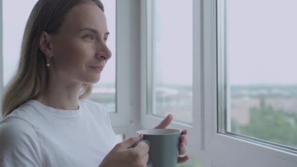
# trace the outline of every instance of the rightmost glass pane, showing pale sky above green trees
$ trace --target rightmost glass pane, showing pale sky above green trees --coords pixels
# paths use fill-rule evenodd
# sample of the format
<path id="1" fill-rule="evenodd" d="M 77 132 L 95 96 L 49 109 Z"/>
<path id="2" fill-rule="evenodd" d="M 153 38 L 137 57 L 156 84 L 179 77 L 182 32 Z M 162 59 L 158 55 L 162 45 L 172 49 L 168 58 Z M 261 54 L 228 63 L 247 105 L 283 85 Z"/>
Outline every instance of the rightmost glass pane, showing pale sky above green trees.
<path id="1" fill-rule="evenodd" d="M 297 147 L 297 1 L 226 1 L 229 131 Z"/>

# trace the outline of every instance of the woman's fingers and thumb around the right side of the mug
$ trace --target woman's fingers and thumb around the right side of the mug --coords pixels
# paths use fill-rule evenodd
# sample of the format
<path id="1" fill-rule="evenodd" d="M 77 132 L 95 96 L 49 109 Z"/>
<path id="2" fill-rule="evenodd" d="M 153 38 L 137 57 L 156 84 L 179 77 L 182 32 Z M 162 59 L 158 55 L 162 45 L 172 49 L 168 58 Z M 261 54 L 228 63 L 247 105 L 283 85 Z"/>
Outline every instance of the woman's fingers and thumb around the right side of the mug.
<path id="1" fill-rule="evenodd" d="M 161 121 L 161 123 L 159 125 L 157 125 L 154 128 L 155 129 L 165 129 L 168 125 L 170 125 L 172 119 L 173 119 L 173 116 L 171 114 L 169 114 L 166 118 L 164 118 L 163 121 Z M 179 138 L 180 139 L 179 155 L 183 155 L 187 152 L 187 150 L 186 150 L 186 146 L 188 145 L 187 134 L 188 134 L 187 129 L 182 130 L 182 135 Z M 187 155 L 184 157 L 178 157 L 177 163 L 182 164 L 182 163 L 185 163 L 186 161 L 188 161 L 189 159 L 190 159 L 190 157 Z"/>

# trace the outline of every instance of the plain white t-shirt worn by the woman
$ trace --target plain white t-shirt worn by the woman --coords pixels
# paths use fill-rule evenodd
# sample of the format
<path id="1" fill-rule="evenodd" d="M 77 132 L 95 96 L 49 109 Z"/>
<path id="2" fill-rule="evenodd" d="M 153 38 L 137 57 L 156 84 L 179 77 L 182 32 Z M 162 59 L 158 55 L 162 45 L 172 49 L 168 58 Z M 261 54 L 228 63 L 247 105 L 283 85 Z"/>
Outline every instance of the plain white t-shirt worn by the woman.
<path id="1" fill-rule="evenodd" d="M 78 110 L 30 100 L 0 122 L 0 167 L 98 167 L 114 145 L 108 113 L 90 100 Z"/>

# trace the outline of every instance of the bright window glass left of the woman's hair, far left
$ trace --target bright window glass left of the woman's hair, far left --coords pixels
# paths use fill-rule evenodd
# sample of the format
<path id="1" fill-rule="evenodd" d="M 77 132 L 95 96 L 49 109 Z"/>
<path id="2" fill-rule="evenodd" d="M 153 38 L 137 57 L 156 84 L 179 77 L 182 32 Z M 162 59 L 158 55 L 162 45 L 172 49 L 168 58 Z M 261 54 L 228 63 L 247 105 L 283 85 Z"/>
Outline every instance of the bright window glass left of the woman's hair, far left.
<path id="1" fill-rule="evenodd" d="M 21 53 L 21 41 L 25 24 L 37 0 L 19 1 L 2 0 L 3 17 L 3 85 L 14 74 Z M 14 10 L 11 10 L 14 9 Z M 18 11 L 18 12 L 16 12 Z"/>

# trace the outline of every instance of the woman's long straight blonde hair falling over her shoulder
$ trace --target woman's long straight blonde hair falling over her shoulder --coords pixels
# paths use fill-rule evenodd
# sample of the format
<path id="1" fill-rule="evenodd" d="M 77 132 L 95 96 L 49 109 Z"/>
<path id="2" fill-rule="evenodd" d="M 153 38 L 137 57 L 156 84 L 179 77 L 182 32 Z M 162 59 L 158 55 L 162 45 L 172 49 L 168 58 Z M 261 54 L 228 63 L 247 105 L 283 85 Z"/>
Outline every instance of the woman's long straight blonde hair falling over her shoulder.
<path id="1" fill-rule="evenodd" d="M 46 58 L 39 48 L 42 32 L 59 33 L 68 11 L 83 2 L 95 2 L 104 11 L 100 0 L 39 0 L 35 4 L 25 27 L 18 69 L 4 91 L 1 108 L 3 118 L 46 90 Z M 91 91 L 92 84 L 82 84 L 79 98 L 86 98 Z"/>

